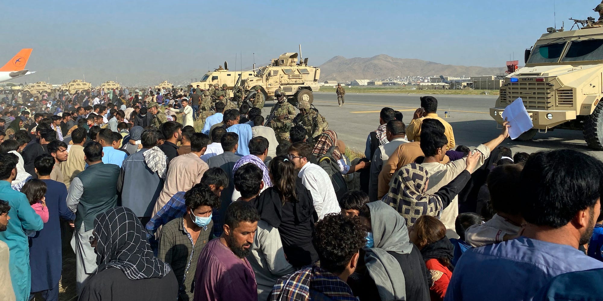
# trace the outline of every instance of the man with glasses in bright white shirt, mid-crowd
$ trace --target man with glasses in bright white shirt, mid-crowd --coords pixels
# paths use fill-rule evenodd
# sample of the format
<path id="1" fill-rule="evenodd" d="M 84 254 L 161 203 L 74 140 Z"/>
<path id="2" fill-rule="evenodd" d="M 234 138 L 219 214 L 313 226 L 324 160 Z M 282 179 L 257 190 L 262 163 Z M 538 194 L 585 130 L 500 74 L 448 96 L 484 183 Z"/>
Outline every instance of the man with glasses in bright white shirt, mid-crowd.
<path id="1" fill-rule="evenodd" d="M 296 142 L 289 146 L 289 160 L 295 164 L 295 169 L 299 170 L 301 184 L 310 191 L 318 220 L 321 220 L 326 214 L 340 213 L 341 207 L 335 188 L 330 185 L 329 175 L 322 167 L 308 161 L 311 155 L 312 149 L 308 143 Z"/>

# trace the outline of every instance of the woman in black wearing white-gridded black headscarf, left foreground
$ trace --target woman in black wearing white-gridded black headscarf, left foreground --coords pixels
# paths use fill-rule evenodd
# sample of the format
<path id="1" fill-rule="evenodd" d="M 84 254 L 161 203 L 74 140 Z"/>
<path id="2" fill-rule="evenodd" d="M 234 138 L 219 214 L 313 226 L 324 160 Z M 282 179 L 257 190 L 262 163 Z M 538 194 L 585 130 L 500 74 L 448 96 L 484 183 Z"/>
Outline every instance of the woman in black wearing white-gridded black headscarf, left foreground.
<path id="1" fill-rule="evenodd" d="M 116 207 L 96 216 L 90 245 L 98 269 L 84 285 L 79 300 L 175 300 L 176 276 L 153 255 L 146 237 L 128 208 Z"/>

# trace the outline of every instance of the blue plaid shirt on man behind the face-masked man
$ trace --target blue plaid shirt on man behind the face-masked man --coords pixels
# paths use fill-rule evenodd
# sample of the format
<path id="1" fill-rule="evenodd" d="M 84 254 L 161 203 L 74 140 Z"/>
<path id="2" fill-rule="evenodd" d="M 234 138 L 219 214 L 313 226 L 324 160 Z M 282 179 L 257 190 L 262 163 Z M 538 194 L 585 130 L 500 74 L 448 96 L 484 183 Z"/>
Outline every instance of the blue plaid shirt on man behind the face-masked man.
<path id="1" fill-rule="evenodd" d="M 168 202 L 157 211 L 154 217 L 147 223 L 147 238 L 153 237 L 153 234 L 159 229 L 160 226 L 165 225 L 173 219 L 177 219 L 185 215 L 186 204 L 185 204 L 185 193 L 186 191 L 178 191 Z M 212 221 L 213 221 L 213 236 L 220 237 L 222 235 L 222 224 L 218 223 L 220 214 L 218 210 L 213 210 Z"/>

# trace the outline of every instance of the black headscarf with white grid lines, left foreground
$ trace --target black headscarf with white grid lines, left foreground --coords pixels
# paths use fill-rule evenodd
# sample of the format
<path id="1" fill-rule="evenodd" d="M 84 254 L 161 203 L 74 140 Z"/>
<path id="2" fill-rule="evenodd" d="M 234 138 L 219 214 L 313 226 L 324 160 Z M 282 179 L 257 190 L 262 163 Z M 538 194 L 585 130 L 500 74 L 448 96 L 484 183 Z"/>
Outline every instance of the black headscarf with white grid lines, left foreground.
<path id="1" fill-rule="evenodd" d="M 134 213 L 115 207 L 94 219 L 96 234 L 96 273 L 119 268 L 131 280 L 163 278 L 171 271 L 169 265 L 153 255 L 147 232 Z"/>

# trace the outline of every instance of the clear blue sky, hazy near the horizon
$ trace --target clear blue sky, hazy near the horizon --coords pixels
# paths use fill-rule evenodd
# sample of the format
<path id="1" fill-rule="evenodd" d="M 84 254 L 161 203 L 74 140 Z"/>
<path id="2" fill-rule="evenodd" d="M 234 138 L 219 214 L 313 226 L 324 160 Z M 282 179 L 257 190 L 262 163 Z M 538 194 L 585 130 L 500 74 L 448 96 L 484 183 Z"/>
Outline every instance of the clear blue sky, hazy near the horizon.
<path id="1" fill-rule="evenodd" d="M 557 27 L 596 17 L 598 1 L 557 0 Z M 554 26 L 552 0 L 508 1 L 4 1 L 0 60 L 34 48 L 28 67 L 112 73 L 231 69 L 282 52 L 311 64 L 387 54 L 502 67 Z M 10 24 L 11 26 L 7 26 Z M 8 29 L 8 28 L 13 28 Z M 241 67 L 241 58 L 237 58 Z"/>

